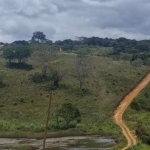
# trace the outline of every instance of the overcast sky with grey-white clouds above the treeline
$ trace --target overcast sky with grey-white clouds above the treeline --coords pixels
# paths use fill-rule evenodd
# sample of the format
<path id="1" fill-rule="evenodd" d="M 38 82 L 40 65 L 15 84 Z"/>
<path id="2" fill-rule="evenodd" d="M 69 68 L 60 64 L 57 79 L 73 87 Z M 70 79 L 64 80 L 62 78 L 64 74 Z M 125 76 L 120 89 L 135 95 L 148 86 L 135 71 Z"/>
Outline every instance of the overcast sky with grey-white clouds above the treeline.
<path id="1" fill-rule="evenodd" d="M 0 42 L 76 37 L 150 39 L 150 0 L 0 0 Z"/>

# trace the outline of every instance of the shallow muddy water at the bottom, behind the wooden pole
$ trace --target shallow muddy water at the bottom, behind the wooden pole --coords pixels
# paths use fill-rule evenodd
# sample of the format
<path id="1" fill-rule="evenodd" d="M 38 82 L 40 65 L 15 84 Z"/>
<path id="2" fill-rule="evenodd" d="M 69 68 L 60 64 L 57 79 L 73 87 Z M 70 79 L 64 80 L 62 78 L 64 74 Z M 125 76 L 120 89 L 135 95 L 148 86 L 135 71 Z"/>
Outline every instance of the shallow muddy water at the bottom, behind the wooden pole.
<path id="1" fill-rule="evenodd" d="M 1 150 L 42 150 L 42 144 L 37 139 L 0 139 Z M 115 144 L 113 139 L 99 136 L 48 138 L 46 150 L 111 150 Z"/>

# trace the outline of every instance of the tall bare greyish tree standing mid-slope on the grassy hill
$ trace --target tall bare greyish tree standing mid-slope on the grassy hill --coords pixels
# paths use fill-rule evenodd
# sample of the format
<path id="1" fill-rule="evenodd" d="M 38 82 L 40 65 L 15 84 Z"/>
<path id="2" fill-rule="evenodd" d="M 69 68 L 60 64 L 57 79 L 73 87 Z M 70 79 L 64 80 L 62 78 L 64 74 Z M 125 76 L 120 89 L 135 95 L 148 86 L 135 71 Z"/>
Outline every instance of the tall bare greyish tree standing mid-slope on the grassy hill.
<path id="1" fill-rule="evenodd" d="M 87 57 L 86 53 L 82 51 L 77 54 L 76 58 L 75 77 L 79 81 L 80 90 L 83 88 L 88 77 L 89 62 Z"/>

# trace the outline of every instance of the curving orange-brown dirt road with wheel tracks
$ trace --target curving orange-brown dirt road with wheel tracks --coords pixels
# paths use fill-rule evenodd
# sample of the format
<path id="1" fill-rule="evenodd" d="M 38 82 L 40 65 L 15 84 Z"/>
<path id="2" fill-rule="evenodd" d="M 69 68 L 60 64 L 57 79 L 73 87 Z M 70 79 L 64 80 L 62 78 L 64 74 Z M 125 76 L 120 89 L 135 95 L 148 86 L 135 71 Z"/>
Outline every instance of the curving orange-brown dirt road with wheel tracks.
<path id="1" fill-rule="evenodd" d="M 126 150 L 127 148 L 136 145 L 137 139 L 125 125 L 122 120 L 124 111 L 127 109 L 132 100 L 138 95 L 138 93 L 150 82 L 150 72 L 145 76 L 145 78 L 122 100 L 118 108 L 114 113 L 114 121 L 122 129 L 122 133 L 127 139 L 127 146 L 122 148 Z"/>

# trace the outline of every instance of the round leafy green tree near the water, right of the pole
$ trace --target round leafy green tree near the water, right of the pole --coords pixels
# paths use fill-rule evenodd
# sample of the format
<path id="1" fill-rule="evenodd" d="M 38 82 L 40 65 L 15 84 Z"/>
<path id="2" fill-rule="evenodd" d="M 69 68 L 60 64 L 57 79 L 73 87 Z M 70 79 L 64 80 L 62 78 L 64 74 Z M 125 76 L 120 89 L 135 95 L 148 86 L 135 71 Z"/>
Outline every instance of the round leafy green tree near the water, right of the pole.
<path id="1" fill-rule="evenodd" d="M 64 103 L 59 110 L 59 115 L 64 119 L 66 127 L 69 127 L 71 121 L 80 120 L 81 117 L 79 109 L 71 103 Z"/>

